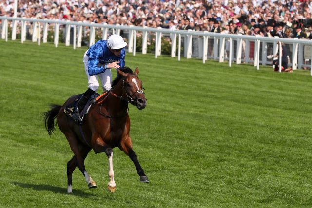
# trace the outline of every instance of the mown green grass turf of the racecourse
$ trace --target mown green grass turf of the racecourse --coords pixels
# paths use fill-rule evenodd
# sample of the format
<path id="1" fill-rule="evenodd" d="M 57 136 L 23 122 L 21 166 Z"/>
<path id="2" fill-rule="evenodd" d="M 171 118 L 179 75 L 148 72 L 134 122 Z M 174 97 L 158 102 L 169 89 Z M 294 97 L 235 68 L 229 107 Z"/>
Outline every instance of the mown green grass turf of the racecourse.
<path id="1" fill-rule="evenodd" d="M 117 191 L 109 193 L 108 159 L 90 152 L 98 189 L 76 169 L 67 194 L 73 153 L 59 130 L 48 136 L 41 113 L 87 89 L 86 48 L 0 40 L 0 49 L 0 207 L 312 206 L 310 72 L 128 54 L 148 99 L 129 114 L 151 183 L 114 149 Z"/>

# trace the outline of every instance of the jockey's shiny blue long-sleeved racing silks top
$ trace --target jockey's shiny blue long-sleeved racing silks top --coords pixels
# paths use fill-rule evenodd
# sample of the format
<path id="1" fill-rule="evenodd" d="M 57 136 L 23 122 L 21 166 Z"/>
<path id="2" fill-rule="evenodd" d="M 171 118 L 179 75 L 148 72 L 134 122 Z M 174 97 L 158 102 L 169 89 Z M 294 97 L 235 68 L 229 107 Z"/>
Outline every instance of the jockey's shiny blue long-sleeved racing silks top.
<path id="1" fill-rule="evenodd" d="M 110 52 L 109 48 L 106 45 L 106 40 L 99 40 L 94 45 L 90 46 L 87 56 L 89 57 L 89 67 L 88 72 L 89 75 L 98 75 L 105 71 L 103 65 L 108 63 L 112 63 L 115 61 L 120 61 L 118 65 L 120 67 L 125 66 L 125 55 L 126 51 L 123 48 L 121 50 L 120 56 L 115 56 L 112 52 Z"/>

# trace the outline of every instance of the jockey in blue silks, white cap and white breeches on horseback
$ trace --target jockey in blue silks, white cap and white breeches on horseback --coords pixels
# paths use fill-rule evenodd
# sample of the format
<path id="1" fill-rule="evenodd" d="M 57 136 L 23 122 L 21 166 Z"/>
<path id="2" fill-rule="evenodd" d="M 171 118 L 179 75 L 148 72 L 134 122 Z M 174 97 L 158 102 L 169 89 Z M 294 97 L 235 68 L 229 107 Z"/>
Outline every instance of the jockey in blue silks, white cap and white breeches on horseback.
<path id="1" fill-rule="evenodd" d="M 88 99 L 98 90 L 97 76 L 101 80 L 104 92 L 111 89 L 112 73 L 111 69 L 125 66 L 125 47 L 127 43 L 119 35 L 111 35 L 107 40 L 99 40 L 83 55 L 84 69 L 88 77 L 88 90 L 78 100 L 72 117 L 82 124 L 80 111 L 86 105 Z"/>

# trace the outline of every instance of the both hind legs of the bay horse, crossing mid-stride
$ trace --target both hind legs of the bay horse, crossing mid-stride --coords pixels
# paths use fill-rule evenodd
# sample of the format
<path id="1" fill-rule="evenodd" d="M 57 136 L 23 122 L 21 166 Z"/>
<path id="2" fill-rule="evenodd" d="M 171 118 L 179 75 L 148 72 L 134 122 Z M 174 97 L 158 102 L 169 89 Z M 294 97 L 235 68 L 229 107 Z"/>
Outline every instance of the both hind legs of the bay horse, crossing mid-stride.
<path id="1" fill-rule="evenodd" d="M 72 159 L 67 163 L 67 192 L 72 193 L 72 175 L 76 167 L 78 167 L 79 170 L 84 175 L 86 182 L 88 183 L 89 189 L 97 188 L 96 183 L 89 176 L 87 170 L 85 169 L 83 162 L 84 159 L 87 157 L 91 148 L 83 146 L 81 144 L 79 145 L 78 141 L 75 139 L 76 137 L 66 136 L 66 138 L 69 142 L 72 151 L 75 154 L 75 156 L 72 157 Z"/>

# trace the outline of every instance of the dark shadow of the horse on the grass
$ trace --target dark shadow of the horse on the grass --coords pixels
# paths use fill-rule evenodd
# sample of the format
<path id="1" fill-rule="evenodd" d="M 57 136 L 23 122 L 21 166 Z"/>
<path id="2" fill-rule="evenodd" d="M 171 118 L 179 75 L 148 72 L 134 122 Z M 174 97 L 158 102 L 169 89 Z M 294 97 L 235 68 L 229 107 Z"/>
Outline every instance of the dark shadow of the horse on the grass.
<path id="1" fill-rule="evenodd" d="M 37 191 L 47 190 L 54 193 L 61 193 L 61 194 L 68 194 L 66 188 L 57 187 L 57 186 L 51 186 L 46 184 L 28 184 L 28 183 L 21 183 L 21 182 L 13 182 L 13 185 L 17 185 L 22 188 L 31 188 Z M 69 194 L 70 195 L 70 194 Z M 81 190 L 73 190 L 73 195 L 80 196 L 80 197 L 96 197 L 97 195 L 94 195 L 92 193 L 87 193 Z"/>

